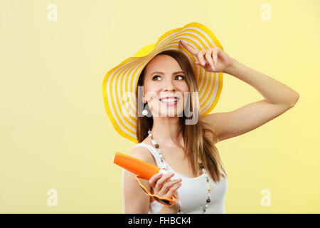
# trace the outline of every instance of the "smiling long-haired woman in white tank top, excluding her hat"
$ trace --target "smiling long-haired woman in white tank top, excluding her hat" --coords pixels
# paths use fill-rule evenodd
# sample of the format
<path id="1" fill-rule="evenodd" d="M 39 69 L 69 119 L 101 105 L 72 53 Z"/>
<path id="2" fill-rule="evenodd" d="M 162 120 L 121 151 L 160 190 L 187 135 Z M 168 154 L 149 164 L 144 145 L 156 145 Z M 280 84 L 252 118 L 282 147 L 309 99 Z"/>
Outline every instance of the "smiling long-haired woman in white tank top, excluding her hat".
<path id="1" fill-rule="evenodd" d="M 136 99 L 146 105 L 144 116 L 137 118 L 139 144 L 128 155 L 166 168 L 169 173 L 140 182 L 152 195 L 176 199 L 171 207 L 155 201 L 137 185 L 135 175 L 124 170 L 124 213 L 225 213 L 228 184 L 215 143 L 267 123 L 299 99 L 299 94 L 288 86 L 230 58 L 218 46 L 196 51 L 182 39 L 179 41 L 204 71 L 235 76 L 265 99 L 228 113 L 198 115 L 198 100 L 193 99 L 198 92 L 196 70 L 186 55 L 166 50 L 151 58 L 137 82 Z M 139 88 L 143 90 L 142 100 Z M 185 114 L 188 106 L 191 116 Z M 196 120 L 186 124 L 195 116 Z"/>

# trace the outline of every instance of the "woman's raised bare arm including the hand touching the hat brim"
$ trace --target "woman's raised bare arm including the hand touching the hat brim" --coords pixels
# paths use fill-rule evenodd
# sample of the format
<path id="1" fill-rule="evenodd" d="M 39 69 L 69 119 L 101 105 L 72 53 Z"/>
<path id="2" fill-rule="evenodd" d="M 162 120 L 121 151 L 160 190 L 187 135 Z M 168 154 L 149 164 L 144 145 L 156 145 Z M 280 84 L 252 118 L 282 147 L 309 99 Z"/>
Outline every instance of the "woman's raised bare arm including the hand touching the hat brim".
<path id="1" fill-rule="evenodd" d="M 203 120 L 210 123 L 218 141 L 242 135 L 267 123 L 294 107 L 299 100 L 299 93 L 289 86 L 230 58 L 217 46 L 196 51 L 185 41 L 181 41 L 181 45 L 198 58 L 196 63 L 206 71 L 228 73 L 248 83 L 265 98 L 231 112 L 203 116 Z"/>

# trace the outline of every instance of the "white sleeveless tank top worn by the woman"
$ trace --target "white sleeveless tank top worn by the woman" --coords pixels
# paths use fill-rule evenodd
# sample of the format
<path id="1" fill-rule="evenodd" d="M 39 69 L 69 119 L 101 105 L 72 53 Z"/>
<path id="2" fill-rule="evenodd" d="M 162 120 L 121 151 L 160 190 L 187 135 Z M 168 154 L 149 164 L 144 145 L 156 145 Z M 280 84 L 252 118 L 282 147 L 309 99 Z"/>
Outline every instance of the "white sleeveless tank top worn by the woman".
<path id="1" fill-rule="evenodd" d="M 156 149 L 151 145 L 148 145 L 144 142 L 140 142 L 134 147 L 145 147 L 151 152 L 151 155 L 154 156 L 156 160 L 156 165 L 161 167 L 161 159 L 159 157 Z M 204 174 L 190 178 L 185 175 L 181 175 L 178 172 L 172 170 L 172 168 L 164 160 L 164 165 L 168 172 L 174 172 L 174 176 L 171 177 L 171 180 L 182 178 L 181 187 L 178 188 L 177 192 L 180 198 L 181 203 L 181 213 L 185 214 L 202 214 L 203 207 L 206 205 L 206 200 L 208 199 L 208 190 L 207 190 L 207 181 Z M 223 172 L 221 170 L 221 172 Z M 228 181 L 225 177 L 221 176 L 220 182 L 215 183 L 213 179 L 208 175 L 210 182 L 210 203 L 206 209 L 206 214 L 225 214 L 225 195 L 228 189 Z M 156 202 L 150 202 L 149 212 L 151 214 L 159 213 L 162 207 L 166 207 L 163 204 Z"/>

